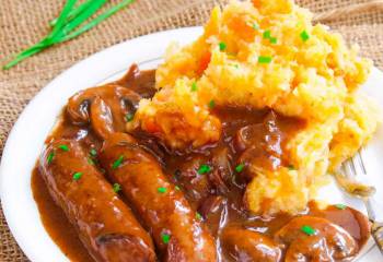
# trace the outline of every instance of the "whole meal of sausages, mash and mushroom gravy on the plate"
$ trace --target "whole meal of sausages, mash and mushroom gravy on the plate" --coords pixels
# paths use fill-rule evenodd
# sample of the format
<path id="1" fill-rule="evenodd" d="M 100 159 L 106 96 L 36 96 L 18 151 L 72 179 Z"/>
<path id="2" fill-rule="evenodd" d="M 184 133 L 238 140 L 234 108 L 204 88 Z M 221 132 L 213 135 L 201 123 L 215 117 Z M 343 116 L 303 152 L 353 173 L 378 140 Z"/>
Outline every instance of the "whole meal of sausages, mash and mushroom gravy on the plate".
<path id="1" fill-rule="evenodd" d="M 69 98 L 32 180 L 69 259 L 356 258 L 368 218 L 315 193 L 376 129 L 357 92 L 371 61 L 311 16 L 289 0 L 232 1 L 156 70 L 134 64 Z"/>

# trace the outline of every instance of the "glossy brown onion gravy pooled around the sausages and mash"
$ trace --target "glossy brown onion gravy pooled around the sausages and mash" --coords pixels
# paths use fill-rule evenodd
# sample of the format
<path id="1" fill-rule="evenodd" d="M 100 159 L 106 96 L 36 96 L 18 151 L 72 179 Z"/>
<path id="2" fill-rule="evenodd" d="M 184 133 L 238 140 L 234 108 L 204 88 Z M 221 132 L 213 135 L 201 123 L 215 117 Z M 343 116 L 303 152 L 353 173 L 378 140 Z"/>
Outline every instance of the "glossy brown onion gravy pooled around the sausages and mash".
<path id="1" fill-rule="evenodd" d="M 142 97 L 151 97 L 154 94 L 154 70 L 139 72 L 132 67 L 128 74 L 116 83 L 134 90 Z M 134 136 L 159 159 L 170 180 L 184 191 L 192 206 L 201 214 L 213 237 L 219 239 L 219 231 L 223 228 L 240 226 L 272 238 L 293 216 L 279 214 L 265 218 L 249 215 L 243 203 L 243 193 L 251 177 L 246 175 L 246 170 L 243 174 L 235 172 L 234 167 L 239 163 L 252 160 L 260 162 L 271 169 L 289 166 L 286 160 L 286 141 L 304 127 L 304 122 L 281 117 L 270 110 L 217 107 L 213 114 L 222 121 L 223 135 L 218 143 L 202 148 L 172 152 L 148 134 L 137 132 Z M 239 138 L 239 130 L 244 127 L 251 129 L 244 130 L 244 136 Z M 117 131 L 124 131 L 124 126 L 117 127 Z M 85 152 L 92 148 L 100 150 L 102 145 L 102 140 L 94 134 L 91 126 L 73 124 L 67 114 L 62 115 L 47 141 L 55 138 L 81 141 Z M 248 146 L 247 142 L 256 145 Z M 251 154 L 244 154 L 246 151 Z M 252 157 L 248 158 L 249 156 Z M 92 160 L 97 166 L 97 159 Z M 214 171 L 200 176 L 197 169 L 201 164 L 214 167 Z M 71 261 L 93 261 L 63 212 L 50 198 L 38 172 L 36 167 L 32 176 L 32 189 L 49 236 Z M 320 210 L 315 203 L 310 203 L 307 211 L 301 215 L 304 214 L 324 217 L 341 226 L 357 240 L 359 248 L 369 237 L 369 224 L 364 216 L 352 209 L 329 206 Z M 218 252 L 221 254 L 221 261 L 232 261 L 230 254 L 224 251 L 224 245 L 218 245 Z"/>

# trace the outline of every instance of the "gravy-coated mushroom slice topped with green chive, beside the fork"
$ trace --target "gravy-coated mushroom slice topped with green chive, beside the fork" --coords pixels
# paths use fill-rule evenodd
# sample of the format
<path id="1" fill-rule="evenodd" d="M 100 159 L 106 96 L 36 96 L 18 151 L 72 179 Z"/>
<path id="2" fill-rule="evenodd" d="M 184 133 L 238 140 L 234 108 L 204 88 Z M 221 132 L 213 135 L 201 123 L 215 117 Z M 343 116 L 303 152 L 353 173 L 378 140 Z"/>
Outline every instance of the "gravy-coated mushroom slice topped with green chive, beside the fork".
<path id="1" fill-rule="evenodd" d="M 295 217 L 275 237 L 288 245 L 286 262 L 344 261 L 358 253 L 358 243 L 350 234 L 322 217 Z"/>

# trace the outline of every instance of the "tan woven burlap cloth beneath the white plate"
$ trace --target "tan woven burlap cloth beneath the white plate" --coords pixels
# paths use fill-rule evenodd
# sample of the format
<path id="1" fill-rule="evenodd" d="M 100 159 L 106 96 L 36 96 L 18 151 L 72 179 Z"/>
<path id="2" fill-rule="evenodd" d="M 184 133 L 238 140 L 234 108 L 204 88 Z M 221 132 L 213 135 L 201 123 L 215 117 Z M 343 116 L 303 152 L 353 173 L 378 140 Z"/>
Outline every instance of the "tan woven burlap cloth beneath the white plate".
<path id="1" fill-rule="evenodd" d="M 48 21 L 58 15 L 63 2 L 0 0 L 0 62 L 40 39 L 49 29 Z M 298 2 L 320 13 L 367 0 Z M 0 70 L 0 156 L 8 133 L 24 106 L 57 74 L 117 43 L 158 31 L 200 25 L 216 4 L 222 5 L 224 0 L 137 0 L 79 38 L 38 53 L 9 71 Z M 383 69 L 383 10 L 346 15 L 327 24 L 349 43 L 359 44 L 362 55 L 372 58 L 375 66 Z M 9 231 L 1 211 L 0 261 L 27 261 Z"/>

